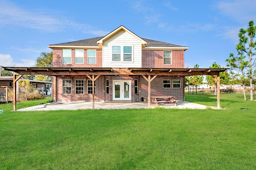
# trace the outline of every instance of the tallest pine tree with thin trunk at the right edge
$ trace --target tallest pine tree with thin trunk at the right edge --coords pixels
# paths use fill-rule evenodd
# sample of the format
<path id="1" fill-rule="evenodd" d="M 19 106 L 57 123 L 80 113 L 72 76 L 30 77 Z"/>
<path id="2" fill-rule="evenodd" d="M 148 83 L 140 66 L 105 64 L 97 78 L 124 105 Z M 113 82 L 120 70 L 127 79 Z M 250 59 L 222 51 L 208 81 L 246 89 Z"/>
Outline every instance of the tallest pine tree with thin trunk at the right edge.
<path id="1" fill-rule="evenodd" d="M 256 70 L 256 41 L 255 41 L 255 32 L 256 32 L 256 26 L 254 26 L 253 21 L 249 21 L 249 25 L 247 29 L 241 28 L 238 37 L 239 37 L 239 43 L 236 45 L 236 50 L 238 51 L 238 55 L 246 55 L 247 61 L 249 63 L 248 66 L 246 66 L 246 69 L 248 70 L 248 75 L 250 79 L 250 100 L 253 100 L 253 88 L 252 88 L 252 81 L 255 76 Z"/>

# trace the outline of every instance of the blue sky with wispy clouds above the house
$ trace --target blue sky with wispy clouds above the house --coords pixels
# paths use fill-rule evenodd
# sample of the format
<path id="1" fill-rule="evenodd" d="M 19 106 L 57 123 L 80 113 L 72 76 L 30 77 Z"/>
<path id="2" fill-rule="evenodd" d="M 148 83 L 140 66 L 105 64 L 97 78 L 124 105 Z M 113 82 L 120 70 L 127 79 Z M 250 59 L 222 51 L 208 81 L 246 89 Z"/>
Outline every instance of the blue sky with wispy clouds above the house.
<path id="1" fill-rule="evenodd" d="M 256 23 L 255 0 L 0 0 L 0 65 L 33 66 L 47 45 L 107 35 L 189 47 L 185 67 L 208 68 L 236 54 L 238 32 Z"/>

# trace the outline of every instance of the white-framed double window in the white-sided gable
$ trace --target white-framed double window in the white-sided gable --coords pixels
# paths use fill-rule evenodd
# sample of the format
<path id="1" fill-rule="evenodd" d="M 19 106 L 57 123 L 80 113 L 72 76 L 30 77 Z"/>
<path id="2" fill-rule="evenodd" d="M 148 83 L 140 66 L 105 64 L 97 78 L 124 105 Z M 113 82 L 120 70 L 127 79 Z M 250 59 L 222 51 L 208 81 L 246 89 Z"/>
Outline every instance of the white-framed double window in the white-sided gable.
<path id="1" fill-rule="evenodd" d="M 113 45 L 112 61 L 131 62 L 133 61 L 132 45 Z"/>

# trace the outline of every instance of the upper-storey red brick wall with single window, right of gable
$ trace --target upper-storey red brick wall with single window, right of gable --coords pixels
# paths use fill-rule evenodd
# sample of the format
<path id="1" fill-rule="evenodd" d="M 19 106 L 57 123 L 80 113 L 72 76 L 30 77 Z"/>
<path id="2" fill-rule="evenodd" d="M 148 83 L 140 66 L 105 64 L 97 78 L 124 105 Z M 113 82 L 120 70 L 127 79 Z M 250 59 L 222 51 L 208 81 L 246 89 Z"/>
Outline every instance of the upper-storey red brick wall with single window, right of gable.
<path id="1" fill-rule="evenodd" d="M 184 50 L 172 50 L 172 64 L 164 64 L 164 50 L 142 50 L 142 68 L 184 68 Z"/>

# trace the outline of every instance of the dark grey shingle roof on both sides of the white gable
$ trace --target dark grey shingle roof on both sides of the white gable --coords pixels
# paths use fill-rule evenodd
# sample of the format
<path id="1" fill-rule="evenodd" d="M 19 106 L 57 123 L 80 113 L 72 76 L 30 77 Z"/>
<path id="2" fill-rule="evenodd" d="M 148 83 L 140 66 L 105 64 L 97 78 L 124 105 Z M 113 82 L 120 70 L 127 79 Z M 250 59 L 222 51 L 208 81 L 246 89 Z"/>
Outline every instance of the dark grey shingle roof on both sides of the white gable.
<path id="1" fill-rule="evenodd" d="M 60 44 L 52 44 L 56 46 L 91 46 L 91 47 L 98 47 L 97 41 L 102 39 L 103 37 L 96 37 L 96 38 L 90 38 L 90 39 L 84 39 L 84 40 L 79 40 L 79 41 L 72 41 L 68 43 L 60 43 Z M 146 39 L 146 38 L 141 38 L 144 41 L 147 42 L 146 47 L 184 47 L 181 45 L 175 45 L 175 44 L 170 44 L 170 43 L 164 43 L 161 41 L 155 41 L 152 39 Z"/>

